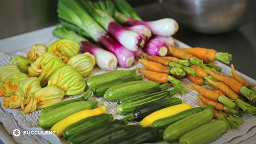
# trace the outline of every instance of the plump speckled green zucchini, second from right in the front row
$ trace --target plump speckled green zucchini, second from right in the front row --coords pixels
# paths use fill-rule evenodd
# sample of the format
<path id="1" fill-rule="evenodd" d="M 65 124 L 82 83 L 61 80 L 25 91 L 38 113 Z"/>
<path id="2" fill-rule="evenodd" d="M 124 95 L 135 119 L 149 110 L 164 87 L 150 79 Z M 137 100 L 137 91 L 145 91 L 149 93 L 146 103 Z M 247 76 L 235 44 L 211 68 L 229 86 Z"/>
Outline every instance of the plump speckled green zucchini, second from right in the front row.
<path id="1" fill-rule="evenodd" d="M 183 134 L 210 122 L 213 114 L 214 110 L 212 108 L 182 118 L 180 121 L 169 125 L 164 130 L 163 139 L 167 142 L 178 141 Z"/>

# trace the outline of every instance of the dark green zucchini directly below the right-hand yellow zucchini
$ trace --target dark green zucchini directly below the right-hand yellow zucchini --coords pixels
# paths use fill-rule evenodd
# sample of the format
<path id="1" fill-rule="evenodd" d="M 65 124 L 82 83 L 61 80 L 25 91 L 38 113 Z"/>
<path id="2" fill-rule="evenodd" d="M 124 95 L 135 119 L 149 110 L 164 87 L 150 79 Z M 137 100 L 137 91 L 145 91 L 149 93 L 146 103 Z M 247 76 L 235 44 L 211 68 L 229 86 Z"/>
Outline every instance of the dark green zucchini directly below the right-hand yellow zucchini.
<path id="1" fill-rule="evenodd" d="M 178 114 L 158 119 L 155 122 L 153 122 L 151 124 L 151 126 L 155 127 L 156 129 L 164 130 L 164 129 L 166 129 L 166 127 L 168 127 L 169 125 L 171 125 L 175 122 L 178 122 L 180 119 L 185 118 L 189 115 L 201 112 L 201 111 L 203 111 L 203 109 L 201 107 L 190 108 L 185 111 L 181 111 Z"/>

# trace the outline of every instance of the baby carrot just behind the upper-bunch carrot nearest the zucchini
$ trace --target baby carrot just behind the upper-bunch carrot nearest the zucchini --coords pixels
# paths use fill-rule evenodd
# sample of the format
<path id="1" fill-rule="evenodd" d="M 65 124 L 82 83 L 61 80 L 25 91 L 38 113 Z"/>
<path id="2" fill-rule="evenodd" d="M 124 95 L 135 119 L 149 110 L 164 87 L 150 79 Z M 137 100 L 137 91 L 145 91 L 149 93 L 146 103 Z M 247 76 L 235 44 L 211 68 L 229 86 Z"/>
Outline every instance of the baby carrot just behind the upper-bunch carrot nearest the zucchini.
<path id="1" fill-rule="evenodd" d="M 161 63 L 154 62 L 154 61 L 148 61 L 145 59 L 139 59 L 139 62 L 142 63 L 143 66 L 148 68 L 149 70 L 156 71 L 159 73 L 166 73 L 166 74 L 172 74 L 172 75 L 185 75 L 185 71 L 183 71 L 180 68 L 171 68 L 163 66 Z"/>

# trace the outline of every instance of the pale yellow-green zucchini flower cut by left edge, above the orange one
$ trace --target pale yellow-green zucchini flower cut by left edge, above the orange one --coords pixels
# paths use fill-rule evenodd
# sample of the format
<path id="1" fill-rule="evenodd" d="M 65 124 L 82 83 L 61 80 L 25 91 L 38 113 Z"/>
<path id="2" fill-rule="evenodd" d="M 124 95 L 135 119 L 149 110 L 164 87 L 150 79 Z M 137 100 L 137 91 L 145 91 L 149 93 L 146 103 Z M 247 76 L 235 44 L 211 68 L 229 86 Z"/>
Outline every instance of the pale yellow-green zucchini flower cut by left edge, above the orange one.
<path id="1" fill-rule="evenodd" d="M 0 67 L 0 82 L 2 82 L 4 78 L 19 72 L 20 69 L 15 65 L 5 65 Z"/>

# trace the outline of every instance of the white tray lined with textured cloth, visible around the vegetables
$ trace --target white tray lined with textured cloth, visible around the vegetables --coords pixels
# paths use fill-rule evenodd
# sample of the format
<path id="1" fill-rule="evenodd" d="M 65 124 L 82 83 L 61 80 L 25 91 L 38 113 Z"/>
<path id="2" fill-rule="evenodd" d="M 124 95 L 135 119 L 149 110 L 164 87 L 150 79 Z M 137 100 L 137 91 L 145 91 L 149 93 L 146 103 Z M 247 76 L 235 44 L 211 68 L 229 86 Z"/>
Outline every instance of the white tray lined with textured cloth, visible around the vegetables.
<path id="1" fill-rule="evenodd" d="M 31 48 L 34 44 L 49 44 L 50 42 L 54 41 L 54 39 L 57 39 L 52 35 L 52 30 L 55 28 L 55 26 L 39 29 L 36 31 L 31 31 L 30 33 L 21 34 L 17 36 L 13 36 L 10 38 L 5 38 L 0 40 L 0 58 L 6 58 L 7 60 L 12 58 L 13 55 L 21 54 L 25 55 L 26 52 Z M 190 47 L 180 41 L 177 40 L 177 47 Z M 10 56 L 9 56 L 10 55 Z M 231 63 L 231 62 L 230 62 Z M 0 63 L 0 66 L 7 65 L 6 63 Z M 231 68 L 224 65 L 221 62 L 218 62 L 218 66 L 222 67 L 222 73 L 231 75 Z M 135 67 L 142 67 L 143 66 L 140 63 L 136 63 L 135 66 L 129 68 L 134 69 Z M 121 67 L 118 67 L 118 69 L 124 69 Z M 97 75 L 101 73 L 105 73 L 106 71 L 103 71 L 99 69 L 98 67 L 95 67 L 92 71 L 92 75 Z M 139 73 L 138 73 L 139 74 Z M 237 74 L 241 77 L 243 77 L 246 81 L 250 82 L 251 84 L 256 85 L 256 81 L 239 71 L 237 71 Z M 145 79 L 145 78 L 144 78 Z M 146 79 L 147 80 L 147 79 Z M 190 81 L 187 78 L 182 78 L 181 80 L 184 86 L 188 85 Z M 207 87 L 207 86 L 206 86 Z M 172 87 L 170 87 L 172 89 Z M 196 93 L 194 91 L 191 91 L 187 89 L 188 92 L 183 95 L 183 97 L 180 97 L 180 95 L 174 95 L 174 97 L 178 97 L 182 100 L 183 103 L 189 103 L 193 107 L 197 107 L 198 102 L 196 99 Z M 67 99 L 73 99 L 80 97 L 80 95 L 71 96 Z M 94 97 L 91 97 L 95 98 Z M 119 115 L 115 111 L 115 107 L 117 104 L 115 102 L 110 102 L 103 98 L 97 98 L 99 101 L 99 105 L 101 103 L 105 103 L 107 105 L 107 113 L 112 113 L 114 115 L 114 118 L 121 119 L 124 115 Z M 2 98 L 0 98 L 0 102 L 2 105 Z M 14 137 L 12 136 L 12 131 L 14 129 L 20 129 L 20 130 L 46 130 L 42 129 L 41 127 L 37 126 L 35 124 L 35 119 L 38 118 L 39 113 L 41 110 L 36 110 L 33 113 L 30 113 L 28 115 L 23 115 L 20 113 L 20 109 L 9 109 L 9 108 L 3 108 L 0 107 L 0 122 L 3 123 L 4 129 L 6 131 L 2 131 L 0 133 L 0 138 L 5 143 L 12 143 L 13 140 L 17 143 L 66 143 L 66 140 L 61 138 L 59 139 L 56 135 L 23 135 L 23 137 Z M 220 138 L 215 140 L 212 143 L 239 143 L 244 140 L 247 140 L 256 133 L 256 117 L 250 116 L 248 114 L 245 114 L 242 119 L 245 121 L 245 123 L 241 126 L 241 130 L 228 130 L 225 134 L 221 135 Z M 134 123 L 130 123 L 134 124 Z M 1 127 L 1 125 L 0 125 Z M 6 136 L 6 132 L 9 134 Z M 249 142 L 250 143 L 250 142 Z"/>

